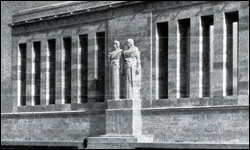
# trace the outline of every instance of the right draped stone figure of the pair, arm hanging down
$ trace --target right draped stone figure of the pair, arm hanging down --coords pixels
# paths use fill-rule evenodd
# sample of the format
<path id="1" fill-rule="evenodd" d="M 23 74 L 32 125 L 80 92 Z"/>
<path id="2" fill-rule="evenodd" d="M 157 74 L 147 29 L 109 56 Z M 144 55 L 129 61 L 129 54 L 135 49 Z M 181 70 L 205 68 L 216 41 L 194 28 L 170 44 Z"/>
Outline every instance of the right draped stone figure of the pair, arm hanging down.
<path id="1" fill-rule="evenodd" d="M 123 51 L 124 59 L 124 96 L 126 99 L 140 99 L 141 62 L 140 51 L 134 40 L 128 39 L 128 50 Z"/>

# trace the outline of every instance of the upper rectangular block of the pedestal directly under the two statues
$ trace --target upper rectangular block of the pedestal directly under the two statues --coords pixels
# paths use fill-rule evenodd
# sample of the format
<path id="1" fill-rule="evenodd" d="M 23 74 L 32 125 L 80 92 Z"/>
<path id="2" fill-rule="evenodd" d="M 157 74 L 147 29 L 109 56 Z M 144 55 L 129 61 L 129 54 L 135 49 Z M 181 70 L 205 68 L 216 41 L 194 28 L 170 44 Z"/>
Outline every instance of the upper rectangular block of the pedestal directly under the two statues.
<path id="1" fill-rule="evenodd" d="M 107 135 L 141 134 L 141 100 L 109 100 L 106 110 Z"/>

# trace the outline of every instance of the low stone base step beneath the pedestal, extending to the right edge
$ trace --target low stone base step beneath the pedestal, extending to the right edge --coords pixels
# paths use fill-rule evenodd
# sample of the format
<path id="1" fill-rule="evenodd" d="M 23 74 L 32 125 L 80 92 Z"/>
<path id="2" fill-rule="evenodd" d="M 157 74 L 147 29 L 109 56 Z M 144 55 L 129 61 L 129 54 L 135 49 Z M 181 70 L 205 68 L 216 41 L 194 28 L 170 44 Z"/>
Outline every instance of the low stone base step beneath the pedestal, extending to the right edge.
<path id="1" fill-rule="evenodd" d="M 249 149 L 249 144 L 152 143 L 129 136 L 100 136 L 89 138 L 87 149 Z"/>

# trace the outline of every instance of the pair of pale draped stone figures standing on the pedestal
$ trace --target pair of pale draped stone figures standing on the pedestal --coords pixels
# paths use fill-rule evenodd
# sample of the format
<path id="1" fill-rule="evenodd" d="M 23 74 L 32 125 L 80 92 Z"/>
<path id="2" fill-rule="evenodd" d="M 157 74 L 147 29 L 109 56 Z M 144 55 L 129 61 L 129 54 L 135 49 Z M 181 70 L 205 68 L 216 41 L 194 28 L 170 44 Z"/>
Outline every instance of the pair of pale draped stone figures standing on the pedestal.
<path id="1" fill-rule="evenodd" d="M 140 51 L 133 39 L 127 40 L 128 49 L 120 49 L 114 41 L 114 51 L 109 54 L 111 99 L 140 99 Z"/>

